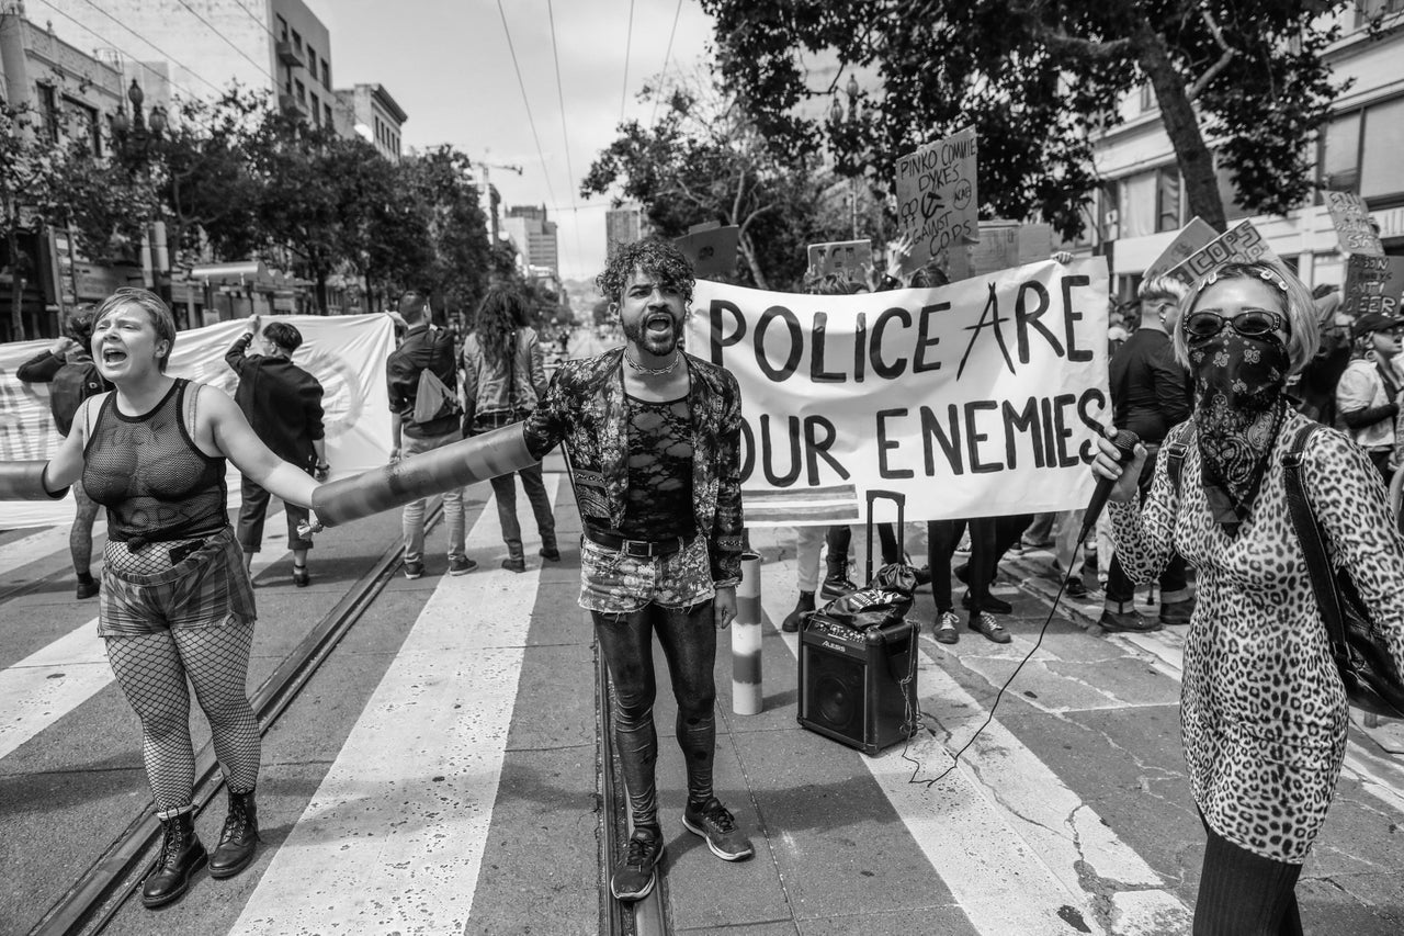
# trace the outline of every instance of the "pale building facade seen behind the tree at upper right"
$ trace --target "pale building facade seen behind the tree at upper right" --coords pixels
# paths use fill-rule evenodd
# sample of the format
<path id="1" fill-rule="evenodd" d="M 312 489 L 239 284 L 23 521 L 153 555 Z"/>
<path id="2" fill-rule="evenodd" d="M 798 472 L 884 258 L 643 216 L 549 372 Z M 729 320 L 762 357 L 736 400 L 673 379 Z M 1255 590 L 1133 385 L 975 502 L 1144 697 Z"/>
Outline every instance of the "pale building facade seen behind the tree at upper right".
<path id="1" fill-rule="evenodd" d="M 1379 38 L 1369 18 L 1384 13 Z M 1338 14 L 1344 34 L 1327 52 L 1337 79 L 1352 84 L 1332 105 L 1316 146 L 1316 181 L 1323 190 L 1362 195 L 1380 225 L 1386 253 L 1404 254 L 1404 3 L 1365 0 Z M 1120 105 L 1122 122 L 1097 141 L 1102 186 L 1090 219 L 1091 247 L 1111 259 L 1113 294 L 1134 295 L 1144 270 L 1191 221 L 1175 153 L 1148 87 Z M 1214 146 L 1213 136 L 1206 142 Z M 1248 219 L 1269 247 L 1307 285 L 1341 285 L 1345 254 L 1330 212 L 1317 194 L 1286 215 L 1252 215 L 1238 204 L 1226 169 L 1219 190 L 1230 226 Z"/>

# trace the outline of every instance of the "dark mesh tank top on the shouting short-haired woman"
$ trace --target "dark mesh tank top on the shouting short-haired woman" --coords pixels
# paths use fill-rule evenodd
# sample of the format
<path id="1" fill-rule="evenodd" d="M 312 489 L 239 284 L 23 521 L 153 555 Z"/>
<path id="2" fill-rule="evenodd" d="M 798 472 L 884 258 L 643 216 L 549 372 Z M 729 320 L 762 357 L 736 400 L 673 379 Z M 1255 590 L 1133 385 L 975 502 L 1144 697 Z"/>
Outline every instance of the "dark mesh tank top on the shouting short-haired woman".
<path id="1" fill-rule="evenodd" d="M 107 507 L 107 535 L 139 550 L 146 542 L 185 540 L 222 530 L 225 460 L 195 447 L 185 420 L 185 388 L 177 379 L 152 412 L 128 416 L 117 394 L 88 436 L 83 489 Z"/>

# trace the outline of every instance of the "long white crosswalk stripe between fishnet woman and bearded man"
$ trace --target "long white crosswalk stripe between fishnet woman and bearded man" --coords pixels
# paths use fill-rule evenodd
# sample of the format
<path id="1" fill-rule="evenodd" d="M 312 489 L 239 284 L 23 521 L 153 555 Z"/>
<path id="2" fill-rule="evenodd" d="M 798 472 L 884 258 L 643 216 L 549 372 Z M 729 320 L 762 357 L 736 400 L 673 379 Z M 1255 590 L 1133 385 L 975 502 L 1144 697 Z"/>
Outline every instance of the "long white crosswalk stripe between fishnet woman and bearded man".
<path id="1" fill-rule="evenodd" d="M 469 552 L 500 541 L 482 512 Z M 539 580 L 444 576 L 232 933 L 466 928 Z"/>

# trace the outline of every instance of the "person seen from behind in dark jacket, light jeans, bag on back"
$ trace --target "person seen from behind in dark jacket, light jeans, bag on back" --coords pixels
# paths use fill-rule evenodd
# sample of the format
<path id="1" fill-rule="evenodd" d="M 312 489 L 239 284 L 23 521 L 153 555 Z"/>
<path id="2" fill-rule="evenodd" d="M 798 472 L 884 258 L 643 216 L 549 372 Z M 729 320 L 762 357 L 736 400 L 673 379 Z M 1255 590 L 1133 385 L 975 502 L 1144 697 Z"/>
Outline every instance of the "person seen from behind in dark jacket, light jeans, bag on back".
<path id="1" fill-rule="evenodd" d="M 392 462 L 442 448 L 463 437 L 453 334 L 432 323 L 428 298 L 423 292 L 410 290 L 402 295 L 399 312 L 409 329 L 385 361 Z M 425 395 L 423 402 L 421 394 Z M 424 498 L 411 500 L 402 514 L 407 579 L 424 575 L 425 503 Z M 468 558 L 462 488 L 444 492 L 444 520 L 448 527 L 448 573 L 466 575 L 477 568 L 477 562 Z"/>

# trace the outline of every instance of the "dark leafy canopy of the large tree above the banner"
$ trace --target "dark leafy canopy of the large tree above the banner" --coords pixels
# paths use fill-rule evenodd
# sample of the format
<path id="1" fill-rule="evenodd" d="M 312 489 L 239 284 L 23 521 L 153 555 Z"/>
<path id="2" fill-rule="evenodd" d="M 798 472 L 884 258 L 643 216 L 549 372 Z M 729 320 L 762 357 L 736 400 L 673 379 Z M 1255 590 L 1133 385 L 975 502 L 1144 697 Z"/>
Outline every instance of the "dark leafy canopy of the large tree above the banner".
<path id="1" fill-rule="evenodd" d="M 1217 164 L 1241 204 L 1282 214 L 1311 190 L 1307 143 L 1345 87 L 1325 49 L 1345 0 L 702 0 L 719 70 L 760 132 L 827 146 L 892 178 L 896 160 L 965 125 L 980 138 L 986 216 L 1084 228 L 1095 135 L 1148 84 L 1189 208 L 1223 229 Z M 831 87 L 806 65 L 837 58 Z M 875 73 L 856 121 L 806 117 L 845 72 Z M 823 107 L 816 108 L 824 111 Z"/>

